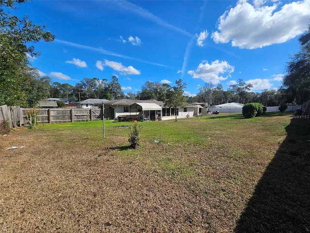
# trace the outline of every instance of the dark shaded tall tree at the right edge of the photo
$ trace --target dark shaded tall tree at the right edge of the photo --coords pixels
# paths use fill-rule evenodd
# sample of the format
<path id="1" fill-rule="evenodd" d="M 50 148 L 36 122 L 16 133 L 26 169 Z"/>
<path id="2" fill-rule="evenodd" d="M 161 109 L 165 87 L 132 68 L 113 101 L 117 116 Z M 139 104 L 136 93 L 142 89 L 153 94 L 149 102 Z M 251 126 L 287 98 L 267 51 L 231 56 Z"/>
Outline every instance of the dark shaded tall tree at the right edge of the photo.
<path id="1" fill-rule="evenodd" d="M 310 26 L 299 38 L 300 50 L 287 63 L 283 79 L 287 102 L 303 103 L 310 99 Z"/>

